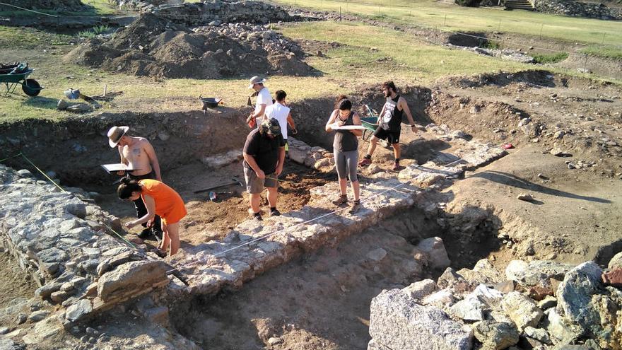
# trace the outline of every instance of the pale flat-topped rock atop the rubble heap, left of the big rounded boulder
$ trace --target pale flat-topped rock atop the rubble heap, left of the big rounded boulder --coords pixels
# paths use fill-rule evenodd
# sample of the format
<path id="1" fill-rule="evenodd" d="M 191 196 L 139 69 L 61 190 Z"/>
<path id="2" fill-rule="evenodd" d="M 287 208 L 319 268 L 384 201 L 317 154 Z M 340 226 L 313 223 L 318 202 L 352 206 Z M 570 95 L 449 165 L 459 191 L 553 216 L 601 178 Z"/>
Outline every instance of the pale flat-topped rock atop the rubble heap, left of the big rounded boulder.
<path id="1" fill-rule="evenodd" d="M 573 269 L 573 265 L 561 264 L 546 260 L 534 260 L 524 262 L 522 260 L 512 260 L 505 268 L 507 279 L 516 281 L 523 286 L 536 286 L 541 281 L 553 278 L 561 281 L 566 272 Z"/>

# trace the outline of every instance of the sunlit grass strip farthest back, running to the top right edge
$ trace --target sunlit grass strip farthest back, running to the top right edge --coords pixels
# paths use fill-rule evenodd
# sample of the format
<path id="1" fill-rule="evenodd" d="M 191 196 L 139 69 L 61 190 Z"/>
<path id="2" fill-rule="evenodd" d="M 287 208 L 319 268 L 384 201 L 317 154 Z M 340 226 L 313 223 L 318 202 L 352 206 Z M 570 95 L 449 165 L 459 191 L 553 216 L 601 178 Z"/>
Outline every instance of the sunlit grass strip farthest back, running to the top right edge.
<path id="1" fill-rule="evenodd" d="M 572 18 L 531 11 L 501 11 L 494 8 L 470 8 L 431 0 L 331 1 L 274 0 L 276 4 L 301 6 L 320 11 L 352 13 L 368 18 L 383 18 L 394 23 L 409 23 L 440 30 L 500 31 L 543 35 L 571 42 L 622 45 L 622 22 Z"/>

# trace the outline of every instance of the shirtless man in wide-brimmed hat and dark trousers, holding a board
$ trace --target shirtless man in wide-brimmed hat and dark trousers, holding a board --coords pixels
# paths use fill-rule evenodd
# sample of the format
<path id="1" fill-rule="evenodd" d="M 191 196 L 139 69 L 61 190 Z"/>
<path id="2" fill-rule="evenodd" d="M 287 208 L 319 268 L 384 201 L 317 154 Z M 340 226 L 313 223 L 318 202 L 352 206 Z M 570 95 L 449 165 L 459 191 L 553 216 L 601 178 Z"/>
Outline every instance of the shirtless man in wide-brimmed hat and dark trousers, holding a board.
<path id="1" fill-rule="evenodd" d="M 129 127 L 111 127 L 108 130 L 108 144 L 112 148 L 117 147 L 121 163 L 127 164 L 130 169 L 136 169 L 127 174 L 119 171 L 118 174 L 134 180 L 152 179 L 162 182 L 160 163 L 153 146 L 143 137 L 127 135 L 128 131 Z M 147 208 L 140 197 L 134 201 L 134 206 L 136 217 L 141 218 L 147 214 Z M 155 216 L 151 227 L 147 227 L 146 223 L 143 223 L 143 227 L 143 231 L 139 234 L 141 239 L 148 238 L 151 234 L 162 235 L 160 216 Z"/>

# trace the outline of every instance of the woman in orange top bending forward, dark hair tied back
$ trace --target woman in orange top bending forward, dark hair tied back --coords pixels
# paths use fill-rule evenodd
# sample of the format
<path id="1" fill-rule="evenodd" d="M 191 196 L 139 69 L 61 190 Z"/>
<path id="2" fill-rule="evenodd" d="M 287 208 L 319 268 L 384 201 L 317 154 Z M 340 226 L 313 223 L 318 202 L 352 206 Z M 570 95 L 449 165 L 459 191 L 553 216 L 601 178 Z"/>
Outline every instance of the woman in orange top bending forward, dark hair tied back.
<path id="1" fill-rule="evenodd" d="M 170 245 L 168 256 L 175 255 L 180 249 L 180 220 L 186 216 L 186 206 L 182 197 L 174 189 L 158 180 L 143 179 L 131 180 L 124 177 L 117 189 L 120 199 L 135 201 L 143 198 L 147 207 L 147 214 L 134 221 L 129 221 L 125 227 L 132 228 L 141 223 L 151 226 L 155 215 L 162 218 L 162 243 L 160 249 L 166 251 Z"/>

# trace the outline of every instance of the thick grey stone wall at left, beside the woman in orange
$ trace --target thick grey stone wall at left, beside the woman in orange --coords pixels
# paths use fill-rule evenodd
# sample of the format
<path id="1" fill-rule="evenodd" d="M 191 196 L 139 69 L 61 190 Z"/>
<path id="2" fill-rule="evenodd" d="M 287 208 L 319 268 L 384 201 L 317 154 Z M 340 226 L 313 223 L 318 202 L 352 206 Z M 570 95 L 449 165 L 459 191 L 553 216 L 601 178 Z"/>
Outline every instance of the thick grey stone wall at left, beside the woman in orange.
<path id="1" fill-rule="evenodd" d="M 35 295 L 43 303 L 60 306 L 57 315 L 41 311 L 31 321 L 50 317 L 73 327 L 168 284 L 164 262 L 111 237 L 110 228 L 120 231 L 119 219 L 95 204 L 0 165 L 0 247 L 40 285 Z"/>

